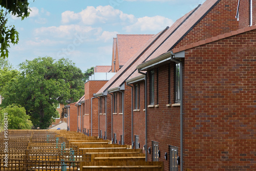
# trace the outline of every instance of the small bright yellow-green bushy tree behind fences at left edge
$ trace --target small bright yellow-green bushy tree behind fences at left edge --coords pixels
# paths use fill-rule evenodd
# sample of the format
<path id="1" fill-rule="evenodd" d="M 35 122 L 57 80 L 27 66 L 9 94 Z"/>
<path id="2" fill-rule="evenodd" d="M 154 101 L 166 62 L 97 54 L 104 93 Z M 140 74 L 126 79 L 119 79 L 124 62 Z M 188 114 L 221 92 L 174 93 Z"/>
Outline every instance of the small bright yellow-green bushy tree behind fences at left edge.
<path id="1" fill-rule="evenodd" d="M 5 109 L 0 109 L 0 130 L 4 129 L 4 121 L 8 121 L 9 130 L 30 130 L 33 126 L 32 122 L 29 120 L 30 116 L 26 115 L 25 108 L 19 105 L 11 104 Z"/>

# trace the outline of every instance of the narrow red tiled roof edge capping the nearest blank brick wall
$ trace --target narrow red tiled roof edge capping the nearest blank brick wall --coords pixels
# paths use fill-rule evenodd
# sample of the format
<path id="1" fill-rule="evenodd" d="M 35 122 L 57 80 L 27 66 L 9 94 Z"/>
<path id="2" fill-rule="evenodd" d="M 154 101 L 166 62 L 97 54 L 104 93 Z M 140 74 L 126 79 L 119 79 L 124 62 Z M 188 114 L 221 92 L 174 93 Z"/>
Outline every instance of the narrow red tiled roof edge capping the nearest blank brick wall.
<path id="1" fill-rule="evenodd" d="M 201 46 L 201 45 L 209 44 L 210 42 L 217 41 L 217 40 L 220 40 L 220 39 L 223 39 L 223 38 L 226 38 L 226 37 L 231 37 L 231 36 L 234 36 L 234 35 L 237 35 L 237 34 L 242 34 L 244 32 L 254 30 L 254 29 L 256 29 L 256 25 L 251 26 L 251 27 L 246 27 L 244 29 L 239 29 L 239 30 L 236 30 L 236 31 L 232 31 L 232 32 L 229 32 L 229 33 L 221 34 L 221 35 L 218 35 L 218 36 L 215 36 L 215 37 L 207 38 L 205 40 L 201 40 L 201 41 L 198 41 L 198 42 L 194 42 L 193 44 L 189 44 L 189 45 L 186 45 L 186 46 L 183 46 L 183 47 L 180 47 L 180 48 L 173 49 L 173 52 L 177 53 L 177 52 L 184 51 L 184 50 L 187 50 L 187 49 L 191 49 L 191 48 L 194 48 L 194 47 L 198 47 L 198 46 Z"/>

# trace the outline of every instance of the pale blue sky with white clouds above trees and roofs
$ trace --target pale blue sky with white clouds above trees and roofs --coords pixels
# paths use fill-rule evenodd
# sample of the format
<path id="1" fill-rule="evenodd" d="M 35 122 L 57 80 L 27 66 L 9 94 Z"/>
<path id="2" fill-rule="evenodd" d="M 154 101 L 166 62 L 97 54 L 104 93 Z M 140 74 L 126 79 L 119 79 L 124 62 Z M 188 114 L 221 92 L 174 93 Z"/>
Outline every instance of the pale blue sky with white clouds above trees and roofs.
<path id="1" fill-rule="evenodd" d="M 111 65 L 116 34 L 157 34 L 205 0 L 30 0 L 30 16 L 9 23 L 19 32 L 9 49 L 15 67 L 41 56 L 69 58 L 82 72 Z"/>

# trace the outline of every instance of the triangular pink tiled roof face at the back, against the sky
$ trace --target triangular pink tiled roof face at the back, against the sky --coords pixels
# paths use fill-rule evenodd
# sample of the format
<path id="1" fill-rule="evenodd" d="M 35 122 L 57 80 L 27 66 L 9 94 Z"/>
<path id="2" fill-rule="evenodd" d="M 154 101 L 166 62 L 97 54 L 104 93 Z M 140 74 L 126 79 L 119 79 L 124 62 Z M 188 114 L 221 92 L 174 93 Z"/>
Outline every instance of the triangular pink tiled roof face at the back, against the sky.
<path id="1" fill-rule="evenodd" d="M 123 66 L 153 34 L 117 34 L 117 52 L 119 66 Z"/>

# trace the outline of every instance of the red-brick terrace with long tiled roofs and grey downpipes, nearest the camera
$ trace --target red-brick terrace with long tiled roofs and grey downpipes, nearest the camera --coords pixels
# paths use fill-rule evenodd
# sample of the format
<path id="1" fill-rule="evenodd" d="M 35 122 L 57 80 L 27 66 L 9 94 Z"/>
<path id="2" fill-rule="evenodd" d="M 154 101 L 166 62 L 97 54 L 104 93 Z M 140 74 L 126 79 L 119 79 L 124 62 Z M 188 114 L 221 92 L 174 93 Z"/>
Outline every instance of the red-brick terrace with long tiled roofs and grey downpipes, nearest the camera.
<path id="1" fill-rule="evenodd" d="M 207 0 L 151 36 L 94 93 L 98 135 L 164 170 L 256 170 L 255 11 Z"/>

